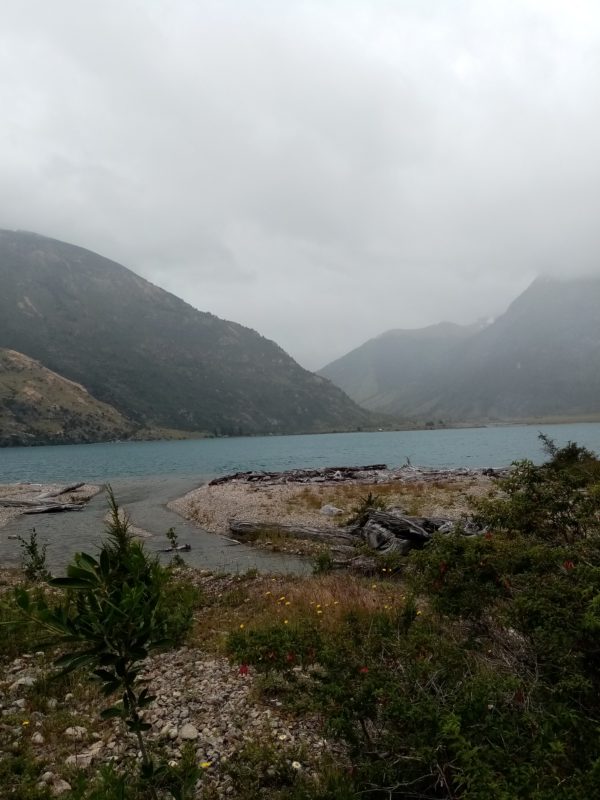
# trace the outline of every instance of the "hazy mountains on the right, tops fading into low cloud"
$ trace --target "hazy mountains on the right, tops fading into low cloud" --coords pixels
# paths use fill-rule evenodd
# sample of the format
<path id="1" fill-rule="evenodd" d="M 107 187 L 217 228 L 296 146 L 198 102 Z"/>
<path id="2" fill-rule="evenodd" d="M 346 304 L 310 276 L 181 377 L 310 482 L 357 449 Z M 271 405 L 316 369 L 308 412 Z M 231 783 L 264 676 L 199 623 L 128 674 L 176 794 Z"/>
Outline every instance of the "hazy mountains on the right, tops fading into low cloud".
<path id="1" fill-rule="evenodd" d="M 319 374 L 421 424 L 600 417 L 600 279 L 539 278 L 491 324 L 388 331 Z"/>

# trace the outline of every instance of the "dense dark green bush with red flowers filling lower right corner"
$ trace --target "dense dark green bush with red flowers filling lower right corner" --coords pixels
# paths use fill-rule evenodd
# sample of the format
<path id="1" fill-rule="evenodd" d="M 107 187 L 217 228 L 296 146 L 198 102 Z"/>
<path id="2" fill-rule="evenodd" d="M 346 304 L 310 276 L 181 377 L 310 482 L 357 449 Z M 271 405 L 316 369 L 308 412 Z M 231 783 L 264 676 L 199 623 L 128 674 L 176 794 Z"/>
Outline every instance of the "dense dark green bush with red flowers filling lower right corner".
<path id="1" fill-rule="evenodd" d="M 237 632 L 349 747 L 369 798 L 588 800 L 600 778 L 597 461 L 577 445 L 517 467 L 482 505 L 494 532 L 436 535 L 396 611 Z M 295 654 L 290 662 L 285 654 Z M 291 669 L 301 666 L 301 671 Z M 342 796 L 342 795 L 340 795 Z"/>

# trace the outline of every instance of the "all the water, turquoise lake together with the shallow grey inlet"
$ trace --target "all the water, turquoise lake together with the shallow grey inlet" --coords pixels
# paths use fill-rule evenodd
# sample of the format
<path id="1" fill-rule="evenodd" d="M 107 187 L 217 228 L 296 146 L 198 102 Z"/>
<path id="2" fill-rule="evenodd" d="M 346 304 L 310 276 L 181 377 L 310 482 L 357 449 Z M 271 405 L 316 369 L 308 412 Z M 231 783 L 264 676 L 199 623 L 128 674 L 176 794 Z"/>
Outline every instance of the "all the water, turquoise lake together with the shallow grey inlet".
<path id="1" fill-rule="evenodd" d="M 600 423 L 19 447 L 0 449 L 0 483 L 110 482 L 134 524 L 153 534 L 147 542 L 150 550 L 164 546 L 164 533 L 174 526 L 180 541 L 192 544 L 185 555 L 191 565 L 301 572 L 309 569 L 306 561 L 232 545 L 169 511 L 167 502 L 210 477 L 241 470 L 375 463 L 393 467 L 407 459 L 431 467 L 499 467 L 519 458 L 539 462 L 544 457 L 540 431 L 558 445 L 576 441 L 600 451 Z M 0 564 L 19 562 L 18 543 L 9 537 L 27 535 L 35 526 L 48 545 L 51 565 L 62 567 L 75 551 L 94 549 L 105 511 L 105 499 L 99 496 L 82 512 L 15 520 L 0 529 Z"/>

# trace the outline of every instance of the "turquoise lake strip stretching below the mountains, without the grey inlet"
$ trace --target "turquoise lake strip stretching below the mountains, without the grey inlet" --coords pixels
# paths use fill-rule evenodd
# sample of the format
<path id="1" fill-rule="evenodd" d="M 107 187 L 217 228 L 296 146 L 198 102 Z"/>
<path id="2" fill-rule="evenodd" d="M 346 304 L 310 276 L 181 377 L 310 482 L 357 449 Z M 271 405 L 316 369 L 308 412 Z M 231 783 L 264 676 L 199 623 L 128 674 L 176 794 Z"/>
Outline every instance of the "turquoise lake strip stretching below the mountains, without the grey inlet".
<path id="1" fill-rule="evenodd" d="M 400 466 L 407 458 L 420 466 L 501 467 L 519 458 L 542 460 L 539 431 L 559 445 L 570 440 L 600 451 L 600 423 L 16 447 L 0 449 L 0 483 L 201 479 L 238 470 Z"/>

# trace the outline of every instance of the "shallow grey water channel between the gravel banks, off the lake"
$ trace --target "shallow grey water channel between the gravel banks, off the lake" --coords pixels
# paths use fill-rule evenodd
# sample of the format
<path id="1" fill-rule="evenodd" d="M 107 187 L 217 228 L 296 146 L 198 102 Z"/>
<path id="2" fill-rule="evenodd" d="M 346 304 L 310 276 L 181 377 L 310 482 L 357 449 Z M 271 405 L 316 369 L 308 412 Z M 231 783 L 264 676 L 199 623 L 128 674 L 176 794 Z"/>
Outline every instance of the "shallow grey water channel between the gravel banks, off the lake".
<path id="1" fill-rule="evenodd" d="M 171 554 L 159 553 L 168 546 L 166 531 L 173 527 L 180 544 L 189 543 L 191 550 L 181 556 L 189 566 L 223 572 L 245 572 L 256 568 L 260 572 L 310 572 L 309 559 L 258 550 L 244 544 L 234 544 L 223 536 L 207 533 L 167 508 L 167 503 L 200 484 L 198 479 L 181 476 L 153 476 L 115 480 L 112 488 L 119 505 L 131 518 L 133 525 L 152 536 L 144 540 L 148 552 L 157 553 L 164 563 Z M 61 514 L 21 516 L 0 528 L 0 565 L 18 566 L 21 550 L 17 536 L 27 538 L 35 528 L 38 540 L 47 545 L 47 560 L 55 574 L 60 573 L 74 553 L 94 554 L 105 530 L 106 497 L 94 497 L 83 511 Z"/>

